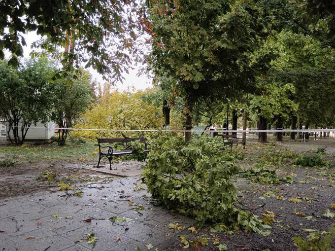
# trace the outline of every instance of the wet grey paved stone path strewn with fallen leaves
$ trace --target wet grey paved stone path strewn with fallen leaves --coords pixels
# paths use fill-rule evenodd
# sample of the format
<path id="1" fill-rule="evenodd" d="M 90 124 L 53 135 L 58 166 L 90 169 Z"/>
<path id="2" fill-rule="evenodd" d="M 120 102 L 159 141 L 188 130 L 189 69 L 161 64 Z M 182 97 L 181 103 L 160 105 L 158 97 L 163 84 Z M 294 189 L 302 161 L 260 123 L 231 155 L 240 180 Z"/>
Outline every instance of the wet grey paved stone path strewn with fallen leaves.
<path id="1" fill-rule="evenodd" d="M 81 187 L 81 197 L 69 191 L 0 199 L 0 250 L 161 250 L 195 221 L 151 204 L 140 184 L 127 177 Z M 169 229 L 176 222 L 185 229 Z M 95 244 L 85 237 L 92 233 Z"/>

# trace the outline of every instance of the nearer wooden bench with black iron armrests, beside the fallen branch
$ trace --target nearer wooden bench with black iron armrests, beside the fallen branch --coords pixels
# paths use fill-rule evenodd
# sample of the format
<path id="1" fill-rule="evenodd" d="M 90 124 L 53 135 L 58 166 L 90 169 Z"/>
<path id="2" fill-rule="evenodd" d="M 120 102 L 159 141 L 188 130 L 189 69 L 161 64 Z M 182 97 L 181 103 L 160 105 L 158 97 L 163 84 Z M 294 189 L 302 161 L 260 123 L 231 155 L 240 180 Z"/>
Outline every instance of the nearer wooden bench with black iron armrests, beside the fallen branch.
<path id="1" fill-rule="evenodd" d="M 145 137 L 139 137 L 139 138 L 96 138 L 99 146 L 99 160 L 97 164 L 97 168 L 99 167 L 100 161 L 103 157 L 108 158 L 109 160 L 109 168 L 112 170 L 112 159 L 113 156 L 118 157 L 122 155 L 127 155 L 127 154 L 134 154 L 134 150 L 129 149 L 128 142 L 131 141 L 141 141 L 145 144 L 145 156 L 144 160 L 147 157 L 147 153 L 150 151 L 147 149 L 147 140 Z M 126 149 L 125 150 L 120 150 L 120 151 L 114 151 L 112 146 L 102 146 L 102 144 L 106 143 L 125 143 L 126 144 Z"/>

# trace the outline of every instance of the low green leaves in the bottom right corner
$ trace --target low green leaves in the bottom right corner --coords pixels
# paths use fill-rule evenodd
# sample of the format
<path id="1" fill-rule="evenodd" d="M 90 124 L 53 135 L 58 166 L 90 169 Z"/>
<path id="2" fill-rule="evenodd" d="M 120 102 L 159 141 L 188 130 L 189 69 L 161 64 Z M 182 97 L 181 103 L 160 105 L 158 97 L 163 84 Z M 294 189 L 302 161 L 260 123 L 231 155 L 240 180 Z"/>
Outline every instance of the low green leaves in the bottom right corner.
<path id="1" fill-rule="evenodd" d="M 335 224 L 331 224 L 329 232 L 310 233 L 304 240 L 300 236 L 294 236 L 293 241 L 298 245 L 297 251 L 330 251 L 331 245 L 335 239 Z"/>

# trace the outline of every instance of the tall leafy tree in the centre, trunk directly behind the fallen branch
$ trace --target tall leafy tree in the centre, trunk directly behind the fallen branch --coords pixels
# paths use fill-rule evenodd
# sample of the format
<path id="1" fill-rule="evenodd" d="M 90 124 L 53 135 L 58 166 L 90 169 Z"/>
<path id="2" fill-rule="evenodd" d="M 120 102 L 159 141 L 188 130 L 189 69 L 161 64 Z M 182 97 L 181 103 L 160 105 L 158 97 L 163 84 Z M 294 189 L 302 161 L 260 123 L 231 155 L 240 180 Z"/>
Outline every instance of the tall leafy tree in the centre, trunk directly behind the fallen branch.
<path id="1" fill-rule="evenodd" d="M 170 76 L 184 99 L 186 130 L 192 128 L 194 103 L 201 97 L 233 96 L 251 90 L 254 70 L 246 53 L 266 35 L 265 25 L 280 23 L 272 9 L 285 1 L 150 1 L 147 30 L 152 38 L 149 65 Z M 280 15 L 277 15 L 280 16 Z M 185 134 L 190 140 L 191 133 Z"/>

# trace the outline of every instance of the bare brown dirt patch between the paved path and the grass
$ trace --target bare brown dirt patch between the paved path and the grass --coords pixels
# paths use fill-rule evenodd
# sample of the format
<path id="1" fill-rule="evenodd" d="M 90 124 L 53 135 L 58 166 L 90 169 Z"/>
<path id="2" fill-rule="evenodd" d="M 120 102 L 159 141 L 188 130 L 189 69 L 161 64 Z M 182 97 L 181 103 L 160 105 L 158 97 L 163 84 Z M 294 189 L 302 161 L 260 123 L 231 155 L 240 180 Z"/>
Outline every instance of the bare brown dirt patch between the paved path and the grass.
<path id="1" fill-rule="evenodd" d="M 41 161 L 0 167 L 0 197 L 13 197 L 40 191 L 57 190 L 58 183 L 71 185 L 96 183 L 118 178 L 92 170 L 76 168 L 86 165 L 83 161 Z"/>

